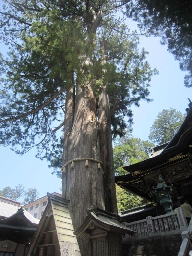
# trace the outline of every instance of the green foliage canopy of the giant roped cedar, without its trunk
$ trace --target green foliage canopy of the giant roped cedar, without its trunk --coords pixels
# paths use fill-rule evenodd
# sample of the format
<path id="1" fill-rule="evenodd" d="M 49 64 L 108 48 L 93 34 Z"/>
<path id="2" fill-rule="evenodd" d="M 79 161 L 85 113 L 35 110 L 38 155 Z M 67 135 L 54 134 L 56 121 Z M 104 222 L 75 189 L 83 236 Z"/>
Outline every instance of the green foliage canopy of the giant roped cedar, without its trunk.
<path id="1" fill-rule="evenodd" d="M 85 77 L 96 104 L 106 86 L 112 133 L 123 135 L 124 117 L 132 122 L 130 106 L 150 100 L 156 74 L 117 15 L 123 1 L 2 2 L 0 39 L 10 50 L 0 55 L 0 145 L 18 154 L 37 146 L 38 158 L 61 167 L 63 135 L 56 131 L 64 126 L 66 92 L 72 86 L 75 95 Z"/>

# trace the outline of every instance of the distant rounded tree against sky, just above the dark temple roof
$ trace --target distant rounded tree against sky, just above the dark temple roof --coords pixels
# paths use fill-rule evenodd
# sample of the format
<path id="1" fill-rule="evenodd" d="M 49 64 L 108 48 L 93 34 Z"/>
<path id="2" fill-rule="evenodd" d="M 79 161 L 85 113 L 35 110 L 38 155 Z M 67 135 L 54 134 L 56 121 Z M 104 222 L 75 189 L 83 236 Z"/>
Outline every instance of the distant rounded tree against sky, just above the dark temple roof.
<path id="1" fill-rule="evenodd" d="M 157 145 L 170 141 L 180 128 L 185 115 L 176 109 L 163 109 L 150 128 L 149 139 Z"/>

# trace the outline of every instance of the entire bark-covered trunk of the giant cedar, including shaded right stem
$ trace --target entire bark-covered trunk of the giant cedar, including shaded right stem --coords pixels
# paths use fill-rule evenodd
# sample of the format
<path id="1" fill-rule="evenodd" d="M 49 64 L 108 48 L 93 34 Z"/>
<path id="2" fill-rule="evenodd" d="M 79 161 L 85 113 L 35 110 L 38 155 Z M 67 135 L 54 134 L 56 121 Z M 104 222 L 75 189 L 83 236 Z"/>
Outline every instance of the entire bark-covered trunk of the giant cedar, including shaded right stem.
<path id="1" fill-rule="evenodd" d="M 93 39 L 102 12 L 98 12 L 95 18 L 92 12 L 89 15 L 92 22 L 88 32 Z M 93 47 L 94 39 L 91 41 Z M 87 56 L 85 64 L 92 64 L 91 57 Z M 92 206 L 117 212 L 108 95 L 105 88 L 101 88 L 97 105 L 93 81 L 83 65 L 80 73 L 81 78 L 77 73 L 73 83 L 75 95 L 71 88 L 66 96 L 63 150 L 63 165 L 66 166 L 62 177 L 62 196 L 70 200 L 74 230 L 84 222 L 87 210 Z M 88 160 L 88 166 L 85 166 L 86 158 L 92 158 Z M 69 162 L 72 159 L 75 159 L 74 168 Z M 102 162 L 101 169 L 97 160 Z M 89 256 L 89 242 L 78 238 L 78 243 L 81 255 Z"/>

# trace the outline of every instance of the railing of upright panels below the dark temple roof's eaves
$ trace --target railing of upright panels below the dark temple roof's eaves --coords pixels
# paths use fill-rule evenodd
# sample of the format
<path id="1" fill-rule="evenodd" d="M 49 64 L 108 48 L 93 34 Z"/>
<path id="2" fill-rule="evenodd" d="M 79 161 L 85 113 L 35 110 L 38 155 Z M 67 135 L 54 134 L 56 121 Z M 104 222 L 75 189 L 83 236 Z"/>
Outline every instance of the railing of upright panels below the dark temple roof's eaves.
<path id="1" fill-rule="evenodd" d="M 181 208 L 177 208 L 174 212 L 168 214 L 156 217 L 148 216 L 146 219 L 140 221 L 131 223 L 123 222 L 123 224 L 136 232 L 134 238 L 155 235 L 159 233 L 161 233 L 161 235 L 166 235 L 167 232 L 172 232 L 175 234 L 182 233 L 188 227 Z M 130 239 L 132 236 L 123 236 L 123 240 L 127 240 L 128 238 Z"/>

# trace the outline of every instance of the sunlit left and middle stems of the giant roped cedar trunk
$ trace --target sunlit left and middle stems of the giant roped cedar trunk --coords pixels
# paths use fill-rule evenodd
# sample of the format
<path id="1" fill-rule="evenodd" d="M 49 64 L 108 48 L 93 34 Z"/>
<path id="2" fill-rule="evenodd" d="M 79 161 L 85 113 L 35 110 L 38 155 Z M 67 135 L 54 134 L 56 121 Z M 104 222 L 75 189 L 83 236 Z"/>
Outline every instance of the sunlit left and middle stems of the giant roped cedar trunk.
<path id="1" fill-rule="evenodd" d="M 66 102 L 66 125 L 64 133 L 63 164 L 72 159 L 62 179 L 62 195 L 70 200 L 70 214 L 76 230 L 84 221 L 91 206 L 104 209 L 103 172 L 98 169 L 99 151 L 97 149 L 96 99 L 91 85 L 77 85 L 75 113 L 72 116 L 72 92 Z M 71 95 L 71 96 L 70 96 Z M 73 99 L 74 100 L 74 99 Z M 73 125 L 71 127 L 71 121 Z M 83 158 L 83 159 L 82 159 Z M 93 158 L 88 160 L 86 158 Z M 82 256 L 89 256 L 87 241 L 78 240 Z"/>

